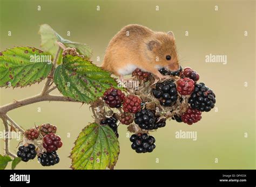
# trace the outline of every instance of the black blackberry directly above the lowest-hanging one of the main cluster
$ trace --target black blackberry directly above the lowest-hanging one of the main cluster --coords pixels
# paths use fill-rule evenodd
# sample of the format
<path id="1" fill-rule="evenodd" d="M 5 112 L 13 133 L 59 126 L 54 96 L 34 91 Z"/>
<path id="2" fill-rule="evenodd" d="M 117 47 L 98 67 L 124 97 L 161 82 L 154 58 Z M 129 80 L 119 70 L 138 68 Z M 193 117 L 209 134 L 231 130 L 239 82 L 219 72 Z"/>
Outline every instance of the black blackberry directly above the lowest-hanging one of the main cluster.
<path id="1" fill-rule="evenodd" d="M 156 117 L 152 110 L 143 109 L 135 114 L 134 122 L 142 129 L 152 130 L 156 125 Z"/>

